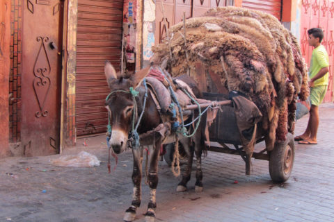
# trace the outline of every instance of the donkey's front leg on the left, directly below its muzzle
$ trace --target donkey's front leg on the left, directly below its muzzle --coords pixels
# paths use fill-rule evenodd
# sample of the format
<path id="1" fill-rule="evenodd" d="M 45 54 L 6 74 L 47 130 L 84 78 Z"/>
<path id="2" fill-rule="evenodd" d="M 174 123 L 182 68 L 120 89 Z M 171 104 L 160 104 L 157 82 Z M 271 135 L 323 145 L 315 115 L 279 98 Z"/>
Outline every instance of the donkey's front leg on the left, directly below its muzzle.
<path id="1" fill-rule="evenodd" d="M 134 194 L 132 203 L 125 211 L 123 220 L 130 222 L 136 217 L 136 209 L 141 205 L 141 164 L 143 162 L 143 148 L 132 149 L 134 155 L 134 170 L 132 171 L 132 182 L 134 182 Z"/>

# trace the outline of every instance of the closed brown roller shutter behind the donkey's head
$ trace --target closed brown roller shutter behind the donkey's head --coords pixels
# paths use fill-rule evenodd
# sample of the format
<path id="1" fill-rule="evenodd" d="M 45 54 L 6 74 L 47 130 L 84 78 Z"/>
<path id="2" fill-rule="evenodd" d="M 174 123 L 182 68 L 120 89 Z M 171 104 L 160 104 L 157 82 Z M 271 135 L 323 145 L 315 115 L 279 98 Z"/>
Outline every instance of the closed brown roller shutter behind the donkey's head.
<path id="1" fill-rule="evenodd" d="M 79 0 L 75 119 L 77 135 L 106 131 L 104 61 L 120 70 L 123 0 Z"/>

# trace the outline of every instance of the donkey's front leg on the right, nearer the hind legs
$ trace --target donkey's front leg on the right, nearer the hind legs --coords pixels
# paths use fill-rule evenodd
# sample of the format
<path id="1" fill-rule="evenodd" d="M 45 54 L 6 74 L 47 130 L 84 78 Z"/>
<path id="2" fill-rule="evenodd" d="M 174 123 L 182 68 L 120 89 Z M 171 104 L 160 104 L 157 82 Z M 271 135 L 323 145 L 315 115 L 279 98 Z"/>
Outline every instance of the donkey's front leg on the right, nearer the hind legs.
<path id="1" fill-rule="evenodd" d="M 157 139 L 154 146 L 150 146 L 150 170 L 148 172 L 148 185 L 150 186 L 150 202 L 145 214 L 145 222 L 153 222 L 157 209 L 156 192 L 159 182 L 158 161 L 160 154 L 161 139 Z"/>

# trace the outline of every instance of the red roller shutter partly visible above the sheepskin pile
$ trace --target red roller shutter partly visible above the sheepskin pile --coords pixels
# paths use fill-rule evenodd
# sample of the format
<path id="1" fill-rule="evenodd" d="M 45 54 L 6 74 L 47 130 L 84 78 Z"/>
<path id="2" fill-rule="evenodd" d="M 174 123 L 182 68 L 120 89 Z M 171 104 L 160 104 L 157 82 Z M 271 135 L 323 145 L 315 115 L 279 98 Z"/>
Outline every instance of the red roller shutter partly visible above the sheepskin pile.
<path id="1" fill-rule="evenodd" d="M 281 0 L 243 0 L 242 7 L 268 12 L 281 20 Z"/>

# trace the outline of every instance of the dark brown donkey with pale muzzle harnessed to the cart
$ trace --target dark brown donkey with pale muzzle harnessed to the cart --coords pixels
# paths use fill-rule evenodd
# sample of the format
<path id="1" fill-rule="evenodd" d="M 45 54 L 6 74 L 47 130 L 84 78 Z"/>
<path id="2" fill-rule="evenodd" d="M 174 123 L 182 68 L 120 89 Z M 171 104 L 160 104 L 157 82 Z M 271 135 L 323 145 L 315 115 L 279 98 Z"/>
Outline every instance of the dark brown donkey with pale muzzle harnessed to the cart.
<path id="1" fill-rule="evenodd" d="M 132 124 L 138 121 L 138 115 L 134 115 L 134 112 L 141 114 L 144 109 L 141 122 L 138 125 L 138 134 L 144 135 L 150 130 L 156 129 L 161 123 L 170 121 L 171 114 L 162 113 L 157 110 L 157 105 L 154 103 L 151 92 L 148 92 L 145 108 L 143 107 L 145 87 L 143 86 L 143 78 L 148 75 L 150 67 L 141 69 L 136 74 L 130 76 L 123 76 L 120 73 L 116 73 L 115 69 L 109 61 L 106 61 L 104 66 L 104 73 L 106 75 L 107 83 L 111 89 L 111 94 L 106 99 L 106 109 L 109 111 L 109 126 L 111 128 L 111 135 L 109 139 L 110 150 L 113 155 L 118 155 L 127 148 L 129 148 L 129 135 L 132 130 Z M 183 81 L 189 82 L 189 78 L 183 78 Z M 195 87 L 196 84 L 191 83 L 194 94 L 200 95 L 199 90 Z M 130 87 L 138 91 L 138 96 L 133 97 L 129 92 Z M 134 103 L 134 98 L 136 103 Z M 184 114 L 184 119 L 189 118 L 191 120 L 191 114 L 197 113 L 189 112 Z M 195 135 L 189 139 L 186 137 L 180 137 L 180 143 L 184 147 L 187 153 L 188 164 L 186 171 L 182 175 L 182 180 L 177 186 L 177 191 L 185 191 L 186 183 L 190 180 L 191 165 L 193 161 L 193 153 L 196 153 L 196 191 L 202 191 L 202 169 L 201 169 L 201 155 L 205 148 L 204 133 L 202 130 L 205 128 L 202 124 L 205 124 L 206 117 L 202 117 L 199 130 Z M 172 133 L 173 134 L 173 133 Z M 174 133 L 175 134 L 175 133 Z M 146 144 L 150 142 L 148 146 L 148 153 L 150 153 L 149 169 L 148 169 L 148 185 L 150 187 L 150 201 L 148 203 L 148 210 L 145 213 L 145 221 L 154 221 L 155 210 L 157 208 L 156 203 L 156 191 L 158 185 L 158 160 L 160 147 L 163 136 L 160 133 L 154 134 L 151 139 L 146 139 Z M 143 145 L 143 141 L 141 141 Z M 204 150 L 205 151 L 205 150 Z M 134 183 L 134 193 L 132 196 L 132 203 L 125 211 L 124 221 L 134 221 L 136 217 L 136 209 L 141 205 L 141 178 L 142 178 L 142 162 L 143 162 L 143 146 L 138 148 L 132 148 L 132 154 L 134 157 L 134 168 L 132 173 L 132 181 Z M 173 167 L 173 166 L 172 166 Z"/>

